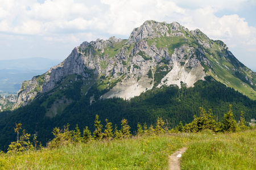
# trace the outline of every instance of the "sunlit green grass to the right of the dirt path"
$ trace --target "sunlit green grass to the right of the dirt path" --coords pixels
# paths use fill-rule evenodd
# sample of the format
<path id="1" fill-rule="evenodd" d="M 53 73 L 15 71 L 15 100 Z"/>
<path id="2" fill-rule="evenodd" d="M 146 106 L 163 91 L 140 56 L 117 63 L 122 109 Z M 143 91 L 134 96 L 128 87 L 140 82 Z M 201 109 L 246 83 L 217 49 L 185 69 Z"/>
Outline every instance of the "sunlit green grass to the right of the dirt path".
<path id="1" fill-rule="evenodd" d="M 182 169 L 256 169 L 256 131 L 205 134 L 182 157 Z"/>

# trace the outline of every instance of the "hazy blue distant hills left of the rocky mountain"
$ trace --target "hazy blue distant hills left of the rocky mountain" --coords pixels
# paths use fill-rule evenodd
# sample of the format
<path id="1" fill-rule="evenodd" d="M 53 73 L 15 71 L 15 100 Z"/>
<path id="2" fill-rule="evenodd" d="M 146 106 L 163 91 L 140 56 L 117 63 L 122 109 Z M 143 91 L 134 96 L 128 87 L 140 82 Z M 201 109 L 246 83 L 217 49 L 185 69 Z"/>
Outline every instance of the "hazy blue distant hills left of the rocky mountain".
<path id="1" fill-rule="evenodd" d="M 23 58 L 0 61 L 0 94 L 17 94 L 20 84 L 35 75 L 45 73 L 60 59 Z"/>

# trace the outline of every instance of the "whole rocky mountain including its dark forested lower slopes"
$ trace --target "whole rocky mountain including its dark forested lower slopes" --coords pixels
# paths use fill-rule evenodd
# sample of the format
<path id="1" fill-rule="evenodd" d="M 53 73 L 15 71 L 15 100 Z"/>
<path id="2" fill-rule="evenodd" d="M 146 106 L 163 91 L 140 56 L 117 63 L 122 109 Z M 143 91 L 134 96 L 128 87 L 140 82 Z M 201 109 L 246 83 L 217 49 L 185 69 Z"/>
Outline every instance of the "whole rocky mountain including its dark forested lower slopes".
<path id="1" fill-rule="evenodd" d="M 135 131 L 137 122 L 150 125 L 159 116 L 170 127 L 191 122 L 201 106 L 220 121 L 232 104 L 237 120 L 243 111 L 250 121 L 255 88 L 256 73 L 224 42 L 176 22 L 148 20 L 127 40 L 82 42 L 59 65 L 24 81 L 15 111 L 0 114 L 0 148 L 15 138 L 15 122 L 46 143 L 56 126 L 93 129 L 96 114 L 113 125 L 127 118 Z"/>

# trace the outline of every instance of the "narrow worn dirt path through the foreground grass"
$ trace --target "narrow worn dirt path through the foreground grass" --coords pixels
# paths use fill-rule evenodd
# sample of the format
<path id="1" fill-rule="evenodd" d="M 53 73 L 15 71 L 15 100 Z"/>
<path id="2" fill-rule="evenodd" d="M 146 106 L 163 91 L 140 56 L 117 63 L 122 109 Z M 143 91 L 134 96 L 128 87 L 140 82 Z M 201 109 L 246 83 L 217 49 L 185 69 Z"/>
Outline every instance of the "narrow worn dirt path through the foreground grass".
<path id="1" fill-rule="evenodd" d="M 181 148 L 179 151 L 174 152 L 169 156 L 169 169 L 170 170 L 179 170 L 180 169 L 180 157 L 187 150 L 187 147 Z"/>

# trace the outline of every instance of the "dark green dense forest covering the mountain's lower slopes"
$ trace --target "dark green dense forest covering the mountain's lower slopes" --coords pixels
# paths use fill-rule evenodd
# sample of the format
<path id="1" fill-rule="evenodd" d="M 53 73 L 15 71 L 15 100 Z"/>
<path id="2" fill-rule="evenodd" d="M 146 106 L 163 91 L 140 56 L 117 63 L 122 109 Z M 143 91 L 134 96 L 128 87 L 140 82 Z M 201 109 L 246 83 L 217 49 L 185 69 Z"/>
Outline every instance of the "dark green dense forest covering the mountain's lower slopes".
<path id="1" fill-rule="evenodd" d="M 181 82 L 182 84 L 182 82 Z M 84 129 L 94 129 L 94 119 L 98 114 L 100 121 L 105 118 L 113 123 L 113 126 L 125 118 L 131 127 L 131 133 L 137 130 L 140 124 L 151 124 L 155 126 L 155 120 L 162 117 L 168 128 L 175 128 L 182 121 L 184 124 L 192 122 L 194 115 L 199 116 L 200 107 L 205 110 L 212 109 L 214 119 L 220 122 L 224 113 L 232 105 L 234 118 L 240 120 L 241 111 L 248 122 L 256 117 L 256 101 L 249 99 L 240 92 L 216 82 L 210 76 L 206 81 L 199 80 L 195 87 L 187 88 L 182 84 L 177 86 L 154 88 L 142 93 L 140 96 L 130 100 L 121 98 L 100 99 L 102 92 L 97 88 L 90 88 L 88 94 L 80 95 L 81 89 L 77 88 L 67 91 L 67 95 L 75 100 L 63 111 L 53 118 L 46 117 L 46 108 L 42 101 L 47 95 L 39 97 L 26 107 L 16 109 L 13 112 L 0 114 L 0 150 L 6 151 L 11 141 L 15 141 L 15 123 L 21 123 L 27 133 L 36 134 L 38 141 L 45 145 L 54 136 L 51 133 L 55 127 L 62 128 L 69 124 L 69 129 L 75 129 L 76 125 Z M 96 101 L 90 105 L 90 96 L 94 94 Z M 102 123 L 104 124 L 104 123 Z M 105 125 L 104 125 L 105 126 Z"/>

